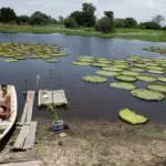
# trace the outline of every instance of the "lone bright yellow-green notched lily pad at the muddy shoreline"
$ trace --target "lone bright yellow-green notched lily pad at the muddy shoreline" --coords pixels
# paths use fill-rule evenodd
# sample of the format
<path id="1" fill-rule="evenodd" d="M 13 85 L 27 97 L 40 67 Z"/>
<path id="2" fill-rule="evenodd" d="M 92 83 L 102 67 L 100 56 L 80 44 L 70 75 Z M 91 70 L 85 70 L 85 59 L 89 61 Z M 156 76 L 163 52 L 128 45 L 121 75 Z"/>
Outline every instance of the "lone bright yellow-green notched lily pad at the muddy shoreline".
<path id="1" fill-rule="evenodd" d="M 148 121 L 147 117 L 143 116 L 143 115 L 137 115 L 136 113 L 134 113 L 134 111 L 129 110 L 129 108 L 123 108 L 118 113 L 120 117 L 131 124 L 144 124 Z"/>

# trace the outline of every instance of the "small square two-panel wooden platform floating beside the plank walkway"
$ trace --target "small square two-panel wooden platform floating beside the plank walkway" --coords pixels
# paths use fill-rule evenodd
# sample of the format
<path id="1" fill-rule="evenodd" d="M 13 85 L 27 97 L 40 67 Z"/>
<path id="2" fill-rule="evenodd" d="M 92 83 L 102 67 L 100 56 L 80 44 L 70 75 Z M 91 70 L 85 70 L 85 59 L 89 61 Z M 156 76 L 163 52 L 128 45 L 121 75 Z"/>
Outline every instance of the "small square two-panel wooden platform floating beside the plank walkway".
<path id="1" fill-rule="evenodd" d="M 54 106 L 68 105 L 64 90 L 39 90 L 38 106 L 48 106 L 50 104 Z"/>

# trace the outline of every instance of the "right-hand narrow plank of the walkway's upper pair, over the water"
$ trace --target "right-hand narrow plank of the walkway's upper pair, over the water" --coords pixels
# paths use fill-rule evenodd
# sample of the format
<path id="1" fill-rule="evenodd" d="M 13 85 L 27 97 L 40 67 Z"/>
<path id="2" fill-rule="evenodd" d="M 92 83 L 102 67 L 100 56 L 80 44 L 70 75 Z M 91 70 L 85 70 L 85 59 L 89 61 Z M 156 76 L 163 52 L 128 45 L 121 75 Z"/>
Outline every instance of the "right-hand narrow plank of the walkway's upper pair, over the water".
<path id="1" fill-rule="evenodd" d="M 30 125 L 31 121 L 32 121 L 32 110 L 33 110 L 33 102 L 34 102 L 34 91 L 28 91 L 29 96 L 28 96 L 28 103 L 29 103 L 29 107 L 27 111 L 27 120 L 25 120 L 25 124 Z"/>

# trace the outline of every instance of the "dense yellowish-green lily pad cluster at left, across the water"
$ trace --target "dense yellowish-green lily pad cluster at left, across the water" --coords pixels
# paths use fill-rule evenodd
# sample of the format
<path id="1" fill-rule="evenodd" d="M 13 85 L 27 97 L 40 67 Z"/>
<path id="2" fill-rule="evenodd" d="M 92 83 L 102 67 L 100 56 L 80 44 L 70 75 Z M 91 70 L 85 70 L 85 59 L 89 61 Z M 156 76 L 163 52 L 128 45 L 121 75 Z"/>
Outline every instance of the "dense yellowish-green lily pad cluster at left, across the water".
<path id="1" fill-rule="evenodd" d="M 58 45 L 27 44 L 27 43 L 0 43 L 0 56 L 4 62 L 18 62 L 27 59 L 43 59 L 50 63 L 58 63 L 60 56 L 66 53 Z"/>

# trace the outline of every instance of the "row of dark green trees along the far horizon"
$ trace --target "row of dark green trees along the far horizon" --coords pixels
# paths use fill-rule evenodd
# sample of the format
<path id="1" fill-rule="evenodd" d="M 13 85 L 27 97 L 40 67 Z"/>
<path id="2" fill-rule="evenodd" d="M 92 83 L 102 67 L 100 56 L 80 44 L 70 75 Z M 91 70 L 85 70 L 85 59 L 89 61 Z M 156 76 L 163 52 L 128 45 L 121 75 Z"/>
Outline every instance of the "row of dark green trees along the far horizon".
<path id="1" fill-rule="evenodd" d="M 0 9 L 0 22 L 45 25 L 45 24 L 64 24 L 65 28 L 95 28 L 96 31 L 114 32 L 116 28 L 126 29 L 149 29 L 149 30 L 166 30 L 166 25 L 162 25 L 165 18 L 160 14 L 155 15 L 152 20 L 138 23 L 134 18 L 114 18 L 113 11 L 104 11 L 104 17 L 97 19 L 95 17 L 96 8 L 92 3 L 83 3 L 81 11 L 73 11 L 68 18 L 59 17 L 59 21 L 51 15 L 46 15 L 40 11 L 35 11 L 31 17 L 17 15 L 11 8 Z"/>

